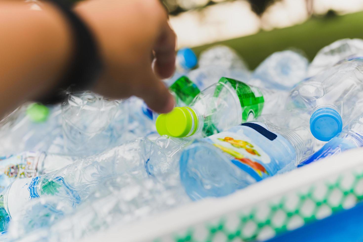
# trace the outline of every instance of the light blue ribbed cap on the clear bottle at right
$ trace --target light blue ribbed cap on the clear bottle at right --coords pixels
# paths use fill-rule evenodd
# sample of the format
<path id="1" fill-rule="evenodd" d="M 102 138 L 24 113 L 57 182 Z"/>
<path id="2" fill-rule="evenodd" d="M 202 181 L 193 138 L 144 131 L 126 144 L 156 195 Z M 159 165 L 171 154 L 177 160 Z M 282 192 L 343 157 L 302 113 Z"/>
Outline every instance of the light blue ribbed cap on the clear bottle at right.
<path id="1" fill-rule="evenodd" d="M 310 131 L 318 140 L 329 141 L 342 131 L 342 127 L 342 117 L 333 108 L 318 108 L 311 115 Z"/>

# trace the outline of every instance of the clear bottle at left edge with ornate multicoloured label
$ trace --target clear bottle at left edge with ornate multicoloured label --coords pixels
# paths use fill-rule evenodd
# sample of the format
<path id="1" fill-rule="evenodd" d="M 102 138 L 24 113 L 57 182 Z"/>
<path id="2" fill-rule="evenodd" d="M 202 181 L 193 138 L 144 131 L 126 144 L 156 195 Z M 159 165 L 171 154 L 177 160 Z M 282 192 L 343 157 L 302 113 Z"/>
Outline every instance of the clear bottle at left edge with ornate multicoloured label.
<path id="1" fill-rule="evenodd" d="M 40 176 L 72 163 L 72 157 L 45 152 L 28 151 L 0 157 L 0 192 L 15 179 Z"/>

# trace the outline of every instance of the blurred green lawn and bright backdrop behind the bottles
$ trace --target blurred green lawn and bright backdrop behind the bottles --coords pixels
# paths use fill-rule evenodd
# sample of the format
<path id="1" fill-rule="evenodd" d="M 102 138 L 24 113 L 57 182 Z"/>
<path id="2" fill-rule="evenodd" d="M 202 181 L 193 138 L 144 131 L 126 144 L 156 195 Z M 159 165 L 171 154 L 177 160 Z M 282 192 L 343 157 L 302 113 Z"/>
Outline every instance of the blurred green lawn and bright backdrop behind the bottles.
<path id="1" fill-rule="evenodd" d="M 253 69 L 269 54 L 301 49 L 311 60 L 340 38 L 363 38 L 363 0 L 162 0 L 178 48 L 221 43 Z"/>

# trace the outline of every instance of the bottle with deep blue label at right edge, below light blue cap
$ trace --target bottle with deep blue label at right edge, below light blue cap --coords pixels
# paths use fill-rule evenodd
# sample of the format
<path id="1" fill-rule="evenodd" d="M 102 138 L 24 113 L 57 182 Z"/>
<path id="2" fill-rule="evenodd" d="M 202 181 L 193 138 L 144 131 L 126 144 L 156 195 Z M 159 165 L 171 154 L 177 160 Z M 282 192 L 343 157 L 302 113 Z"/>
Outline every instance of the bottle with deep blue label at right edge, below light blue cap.
<path id="1" fill-rule="evenodd" d="M 311 162 L 323 159 L 325 157 L 338 155 L 348 149 L 363 146 L 363 116 L 353 120 L 348 124 L 342 132 L 336 135 L 321 149 L 315 152 L 309 159 L 306 159 L 298 167 L 309 164 Z"/>

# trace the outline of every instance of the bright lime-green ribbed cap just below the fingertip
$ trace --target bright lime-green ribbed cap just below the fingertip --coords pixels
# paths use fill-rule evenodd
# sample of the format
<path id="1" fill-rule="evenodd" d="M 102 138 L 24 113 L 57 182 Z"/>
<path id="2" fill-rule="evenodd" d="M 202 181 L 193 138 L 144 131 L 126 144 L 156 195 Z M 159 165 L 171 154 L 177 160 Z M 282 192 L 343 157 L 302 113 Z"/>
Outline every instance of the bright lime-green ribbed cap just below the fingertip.
<path id="1" fill-rule="evenodd" d="M 192 134 L 194 134 L 197 130 L 197 124 L 197 116 L 191 108 L 176 107 L 168 114 L 160 114 L 158 116 L 156 119 L 156 130 L 160 135 L 183 138 L 190 133 L 192 128 Z"/>

